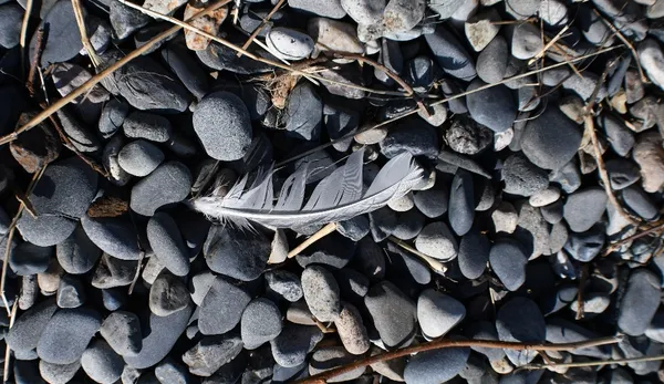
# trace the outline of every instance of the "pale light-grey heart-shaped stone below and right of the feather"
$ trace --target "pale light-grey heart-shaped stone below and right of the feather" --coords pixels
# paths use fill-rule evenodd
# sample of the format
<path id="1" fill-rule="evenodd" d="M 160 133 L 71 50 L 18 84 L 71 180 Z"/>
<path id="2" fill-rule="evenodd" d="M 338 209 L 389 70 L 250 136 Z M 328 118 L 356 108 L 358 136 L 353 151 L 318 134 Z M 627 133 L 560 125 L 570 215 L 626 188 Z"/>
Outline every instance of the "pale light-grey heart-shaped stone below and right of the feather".
<path id="1" fill-rule="evenodd" d="M 445 293 L 427 289 L 417 299 L 417 321 L 428 339 L 447 334 L 465 316 L 464 304 Z"/>

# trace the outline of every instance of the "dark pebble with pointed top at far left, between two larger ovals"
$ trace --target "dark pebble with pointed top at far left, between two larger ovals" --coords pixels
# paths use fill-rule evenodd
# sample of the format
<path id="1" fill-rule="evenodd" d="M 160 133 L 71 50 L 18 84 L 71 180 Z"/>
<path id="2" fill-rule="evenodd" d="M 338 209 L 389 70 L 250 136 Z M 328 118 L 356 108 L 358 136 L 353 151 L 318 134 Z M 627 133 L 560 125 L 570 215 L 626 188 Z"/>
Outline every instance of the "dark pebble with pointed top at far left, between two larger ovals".
<path id="1" fill-rule="evenodd" d="M 83 274 L 102 257 L 102 250 L 90 240 L 82 226 L 76 226 L 74 232 L 55 247 L 55 255 L 65 272 Z"/>

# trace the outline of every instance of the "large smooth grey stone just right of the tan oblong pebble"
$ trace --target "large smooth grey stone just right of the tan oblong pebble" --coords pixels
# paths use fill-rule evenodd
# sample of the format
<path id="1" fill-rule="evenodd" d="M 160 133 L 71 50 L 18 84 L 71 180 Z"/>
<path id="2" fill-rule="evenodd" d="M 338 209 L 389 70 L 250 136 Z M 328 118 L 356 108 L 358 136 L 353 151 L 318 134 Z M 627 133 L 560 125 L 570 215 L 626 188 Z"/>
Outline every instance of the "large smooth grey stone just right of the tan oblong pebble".
<path id="1" fill-rule="evenodd" d="M 364 304 L 385 346 L 400 347 L 411 343 L 417 330 L 417 310 L 398 288 L 382 281 L 371 287 Z"/>

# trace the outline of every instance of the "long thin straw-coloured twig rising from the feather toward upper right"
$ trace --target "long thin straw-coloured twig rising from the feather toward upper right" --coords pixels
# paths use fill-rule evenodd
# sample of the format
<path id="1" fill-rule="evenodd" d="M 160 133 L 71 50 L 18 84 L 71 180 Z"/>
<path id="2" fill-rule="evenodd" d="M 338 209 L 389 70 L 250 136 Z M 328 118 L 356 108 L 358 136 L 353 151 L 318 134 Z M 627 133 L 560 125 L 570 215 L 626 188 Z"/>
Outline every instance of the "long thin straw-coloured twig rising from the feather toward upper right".
<path id="1" fill-rule="evenodd" d="M 530 75 L 533 75 L 533 74 L 537 74 L 537 73 L 540 73 L 540 72 L 546 72 L 546 71 L 549 71 L 549 70 L 553 70 L 556 68 L 560 68 L 560 66 L 567 65 L 569 62 L 577 62 L 577 61 L 582 61 L 582 60 L 585 60 L 585 59 L 589 59 L 589 58 L 593 58 L 593 56 L 596 56 L 596 55 L 600 55 L 600 54 L 603 54 L 603 53 L 606 53 L 606 52 L 611 52 L 613 50 L 616 50 L 616 49 L 620 49 L 620 48 L 623 48 L 623 46 L 624 45 L 615 45 L 615 46 L 606 48 L 606 49 L 599 50 L 599 51 L 593 52 L 593 53 L 589 53 L 589 54 L 584 54 L 582 56 L 578 56 L 578 58 L 571 59 L 570 61 L 564 61 L 564 62 L 551 64 L 549 66 L 543 66 L 543 68 L 540 68 L 540 69 L 537 69 L 537 70 L 532 70 L 532 71 L 529 71 L 529 72 L 526 72 L 526 73 L 521 73 L 521 74 L 518 74 L 518 75 L 515 75 L 515 76 L 511 76 L 511 77 L 508 77 L 508 79 L 504 79 L 504 80 L 501 80 L 501 81 L 499 81 L 497 83 L 485 84 L 485 85 L 483 85 L 483 86 L 480 86 L 480 87 L 478 87 L 476 90 L 473 90 L 473 91 L 466 91 L 466 92 L 458 93 L 456 95 L 452 95 L 449 97 L 437 100 L 437 101 L 435 101 L 433 103 L 429 103 L 428 105 L 429 106 L 434 106 L 434 105 L 447 103 L 447 102 L 450 102 L 453 100 L 465 97 L 465 96 L 467 96 L 469 94 L 473 94 L 475 92 L 480 92 L 480 91 L 488 90 L 490 87 L 494 87 L 494 86 L 497 86 L 497 85 L 500 85 L 500 84 L 508 83 L 510 81 L 515 81 L 515 80 L 528 77 Z M 321 145 L 319 145 L 319 146 L 317 146 L 317 147 L 314 147 L 312 149 L 305 151 L 305 152 L 303 152 L 303 153 L 301 153 L 299 155 L 295 155 L 293 157 L 287 158 L 286 160 L 281 162 L 281 163 L 278 163 L 276 165 L 276 167 L 280 167 L 280 166 L 283 166 L 283 165 L 286 165 L 286 164 L 288 164 L 290 162 L 294 162 L 294 160 L 300 159 L 302 157 L 309 156 L 309 155 L 311 155 L 313 153 L 317 153 L 317 152 L 319 152 L 321 149 L 330 147 L 330 146 L 332 146 L 332 145 L 334 145 L 336 143 L 340 143 L 340 142 L 343 142 L 345 139 L 349 139 L 349 138 L 355 136 L 356 134 L 360 134 L 360 133 L 363 133 L 363 132 L 366 132 L 366 131 L 375 129 L 375 128 L 378 128 L 378 127 L 392 124 L 392 123 L 394 123 L 394 122 L 396 122 L 398 120 L 402 120 L 404 117 L 407 117 L 407 116 L 411 116 L 413 114 L 416 114 L 417 111 L 418 110 L 412 110 L 412 111 L 408 111 L 408 112 L 404 112 L 404 113 L 402 113 L 400 115 L 396 115 L 396 116 L 394 116 L 394 117 L 392 117 L 390 120 L 386 120 L 384 122 L 377 123 L 375 125 L 369 125 L 369 126 L 366 126 L 366 127 L 364 127 L 364 128 L 362 128 L 360 131 L 356 131 L 354 133 L 350 133 L 350 134 L 346 134 L 346 135 L 344 135 L 344 136 L 342 136 L 340 138 L 332 139 L 332 141 L 328 142 L 325 144 L 321 144 Z"/>

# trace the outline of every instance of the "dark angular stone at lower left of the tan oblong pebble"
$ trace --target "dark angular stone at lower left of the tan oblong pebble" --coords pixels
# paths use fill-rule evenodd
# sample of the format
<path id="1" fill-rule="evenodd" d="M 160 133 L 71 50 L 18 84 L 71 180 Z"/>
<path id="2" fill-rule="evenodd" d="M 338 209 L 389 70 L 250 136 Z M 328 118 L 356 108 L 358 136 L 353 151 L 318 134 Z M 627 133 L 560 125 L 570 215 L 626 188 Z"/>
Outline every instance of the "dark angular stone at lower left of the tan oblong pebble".
<path id="1" fill-rule="evenodd" d="M 318 326 L 286 323 L 281 333 L 270 341 L 272 356 L 281 366 L 298 366 L 321 340 L 323 332 Z"/>

